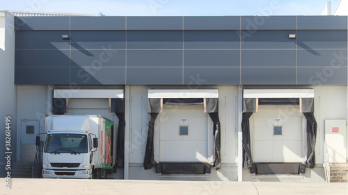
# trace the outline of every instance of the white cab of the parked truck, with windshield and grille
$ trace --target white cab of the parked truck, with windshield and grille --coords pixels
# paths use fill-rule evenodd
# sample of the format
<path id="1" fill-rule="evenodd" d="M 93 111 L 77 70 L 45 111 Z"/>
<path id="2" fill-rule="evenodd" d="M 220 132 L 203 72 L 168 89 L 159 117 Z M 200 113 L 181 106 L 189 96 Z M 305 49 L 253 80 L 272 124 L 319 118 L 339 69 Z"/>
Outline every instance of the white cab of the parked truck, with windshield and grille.
<path id="1" fill-rule="evenodd" d="M 54 131 L 47 134 L 42 156 L 44 178 L 90 178 L 92 135 L 88 131 Z"/>

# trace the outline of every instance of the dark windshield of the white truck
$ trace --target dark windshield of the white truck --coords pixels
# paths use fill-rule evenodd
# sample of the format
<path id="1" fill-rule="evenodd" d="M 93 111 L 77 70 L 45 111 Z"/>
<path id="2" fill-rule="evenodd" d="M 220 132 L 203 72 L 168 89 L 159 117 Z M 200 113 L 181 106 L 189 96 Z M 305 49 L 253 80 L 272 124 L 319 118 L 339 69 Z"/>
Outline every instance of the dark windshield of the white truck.
<path id="1" fill-rule="evenodd" d="M 47 135 L 45 153 L 87 153 L 87 135 L 50 134 Z"/>

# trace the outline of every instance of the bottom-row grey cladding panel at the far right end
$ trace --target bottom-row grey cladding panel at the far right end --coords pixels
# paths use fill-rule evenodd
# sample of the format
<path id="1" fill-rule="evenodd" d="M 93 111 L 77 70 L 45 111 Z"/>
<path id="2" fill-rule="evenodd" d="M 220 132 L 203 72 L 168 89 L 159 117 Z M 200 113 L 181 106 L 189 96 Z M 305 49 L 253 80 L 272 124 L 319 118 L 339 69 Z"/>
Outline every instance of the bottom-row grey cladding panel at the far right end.
<path id="1" fill-rule="evenodd" d="M 347 67 L 299 67 L 298 85 L 347 85 Z"/>

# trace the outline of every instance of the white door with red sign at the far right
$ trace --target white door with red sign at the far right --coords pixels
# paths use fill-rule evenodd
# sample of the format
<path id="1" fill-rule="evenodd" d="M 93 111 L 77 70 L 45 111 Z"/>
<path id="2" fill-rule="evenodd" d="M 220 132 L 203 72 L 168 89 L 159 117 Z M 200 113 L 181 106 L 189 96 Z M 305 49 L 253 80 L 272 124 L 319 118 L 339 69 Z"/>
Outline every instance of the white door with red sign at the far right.
<path id="1" fill-rule="evenodd" d="M 329 162 L 347 162 L 347 121 L 325 120 L 325 142 Z"/>

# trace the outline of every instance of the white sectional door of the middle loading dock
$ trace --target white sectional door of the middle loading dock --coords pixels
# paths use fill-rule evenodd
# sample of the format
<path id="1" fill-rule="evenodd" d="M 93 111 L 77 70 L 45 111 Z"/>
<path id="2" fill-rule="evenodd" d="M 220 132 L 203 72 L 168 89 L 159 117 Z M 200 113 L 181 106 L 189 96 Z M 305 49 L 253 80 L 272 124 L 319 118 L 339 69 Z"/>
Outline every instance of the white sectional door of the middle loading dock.
<path id="1" fill-rule="evenodd" d="M 207 162 L 208 117 L 203 105 L 164 105 L 157 117 L 159 161 Z"/>

